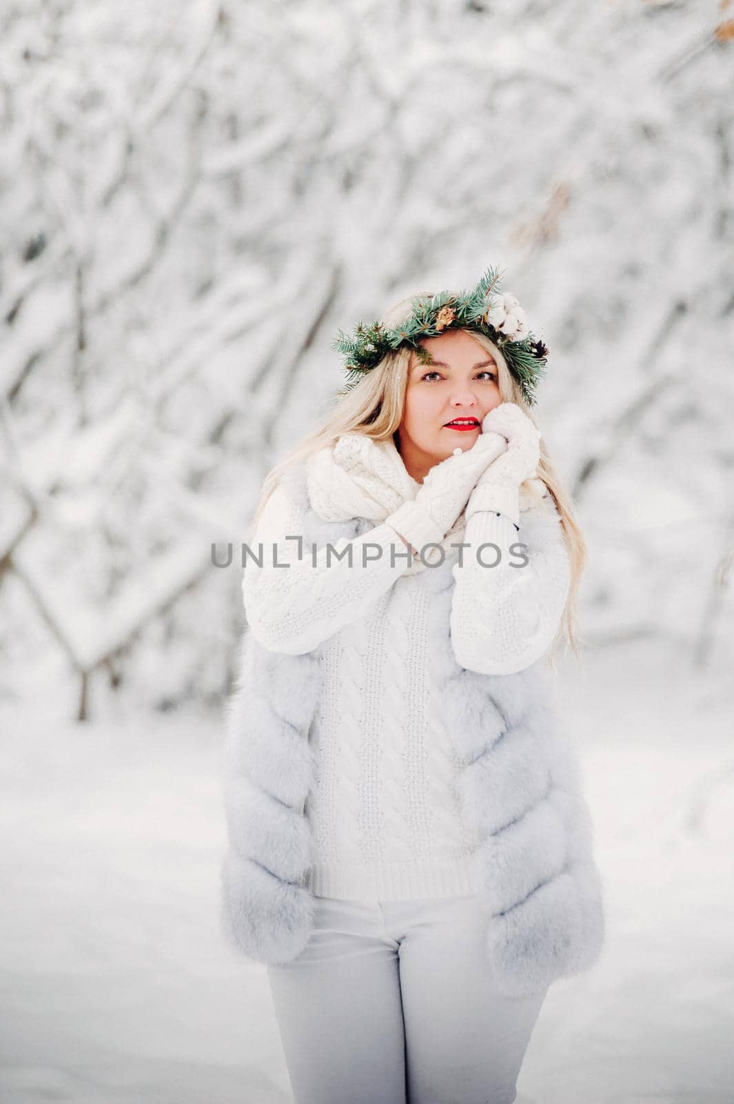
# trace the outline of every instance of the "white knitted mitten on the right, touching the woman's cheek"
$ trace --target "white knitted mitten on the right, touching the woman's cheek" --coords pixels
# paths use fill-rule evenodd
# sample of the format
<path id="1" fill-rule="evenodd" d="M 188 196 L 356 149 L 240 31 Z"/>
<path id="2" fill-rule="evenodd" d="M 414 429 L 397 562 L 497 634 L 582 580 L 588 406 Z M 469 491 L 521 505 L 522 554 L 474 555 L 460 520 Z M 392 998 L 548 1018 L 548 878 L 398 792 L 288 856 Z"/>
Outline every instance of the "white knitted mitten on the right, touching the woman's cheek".
<path id="1" fill-rule="evenodd" d="M 507 448 L 481 474 L 466 506 L 466 518 L 477 510 L 493 510 L 517 526 L 520 484 L 536 475 L 542 434 L 516 403 L 500 403 L 489 411 L 482 422 L 482 432 L 501 434 Z"/>

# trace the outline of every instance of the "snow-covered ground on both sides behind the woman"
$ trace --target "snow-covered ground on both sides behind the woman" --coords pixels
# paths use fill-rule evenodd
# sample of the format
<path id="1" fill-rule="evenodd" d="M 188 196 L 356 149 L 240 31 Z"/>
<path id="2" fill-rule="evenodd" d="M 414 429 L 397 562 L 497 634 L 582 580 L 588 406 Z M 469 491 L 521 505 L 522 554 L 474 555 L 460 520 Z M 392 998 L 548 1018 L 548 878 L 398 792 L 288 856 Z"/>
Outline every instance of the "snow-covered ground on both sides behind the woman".
<path id="1" fill-rule="evenodd" d="M 688 665 L 562 665 L 608 934 L 551 987 L 518 1104 L 734 1101 L 734 690 Z M 0 1100 L 289 1101 L 265 969 L 218 931 L 220 723 L 57 714 L 0 714 Z"/>

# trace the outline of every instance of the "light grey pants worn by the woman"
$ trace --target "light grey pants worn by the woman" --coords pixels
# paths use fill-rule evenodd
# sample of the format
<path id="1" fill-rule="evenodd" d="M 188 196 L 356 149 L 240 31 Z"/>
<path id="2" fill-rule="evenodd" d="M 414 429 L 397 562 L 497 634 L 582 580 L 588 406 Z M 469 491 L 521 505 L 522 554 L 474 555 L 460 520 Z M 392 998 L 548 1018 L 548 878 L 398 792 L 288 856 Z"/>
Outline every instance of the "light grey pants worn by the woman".
<path id="1" fill-rule="evenodd" d="M 317 898 L 268 979 L 295 1104 L 511 1104 L 546 991 L 492 983 L 475 896 Z"/>

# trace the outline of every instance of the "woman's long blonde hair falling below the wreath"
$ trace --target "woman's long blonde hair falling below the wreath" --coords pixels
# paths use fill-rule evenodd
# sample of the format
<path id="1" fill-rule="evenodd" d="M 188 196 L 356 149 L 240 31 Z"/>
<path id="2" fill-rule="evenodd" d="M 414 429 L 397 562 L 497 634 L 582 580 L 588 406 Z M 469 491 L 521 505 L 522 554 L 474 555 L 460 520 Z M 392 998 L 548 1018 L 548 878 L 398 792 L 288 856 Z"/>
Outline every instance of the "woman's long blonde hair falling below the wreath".
<path id="1" fill-rule="evenodd" d="M 428 291 L 420 294 L 423 296 L 432 295 Z M 412 298 L 402 299 L 385 311 L 382 315 L 384 325 L 387 327 L 397 326 L 410 312 Z M 497 382 L 503 402 L 516 403 L 536 425 L 536 420 L 525 403 L 520 386 L 510 374 L 499 348 L 484 333 L 476 330 L 465 330 L 464 332 L 469 333 L 483 349 L 495 358 L 498 369 Z M 307 456 L 320 448 L 333 445 L 345 433 L 364 433 L 365 436 L 371 437 L 374 440 L 387 440 L 396 433 L 402 422 L 411 361 L 412 349 L 409 346 L 401 346 L 395 352 L 384 357 L 374 369 L 365 372 L 356 386 L 346 393 L 338 393 L 334 396 L 331 408 L 322 416 L 316 426 L 291 448 L 266 476 L 250 526 L 250 534 L 255 532 L 266 502 L 288 468 L 305 460 Z M 574 518 L 571 496 L 553 467 L 542 438 L 540 439 L 538 478 L 546 485 L 558 508 L 571 567 L 569 594 L 549 656 L 550 666 L 554 668 L 554 649 L 561 639 L 566 640 L 573 649 L 576 660 L 579 659 L 578 599 L 581 575 L 586 562 L 586 544 Z"/>

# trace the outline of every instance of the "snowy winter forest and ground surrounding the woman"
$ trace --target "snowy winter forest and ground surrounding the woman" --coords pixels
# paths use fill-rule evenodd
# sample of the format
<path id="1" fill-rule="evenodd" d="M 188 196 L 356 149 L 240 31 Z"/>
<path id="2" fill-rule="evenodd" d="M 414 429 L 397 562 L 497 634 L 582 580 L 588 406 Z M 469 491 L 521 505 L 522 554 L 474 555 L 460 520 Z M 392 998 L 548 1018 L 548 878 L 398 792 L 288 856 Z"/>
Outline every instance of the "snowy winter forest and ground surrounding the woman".
<path id="1" fill-rule="evenodd" d="M 337 328 L 493 264 L 589 543 L 609 900 L 518 1102 L 734 1101 L 734 3 L 0 0 L 0 1098 L 290 1098 L 216 928 L 212 545 Z"/>

